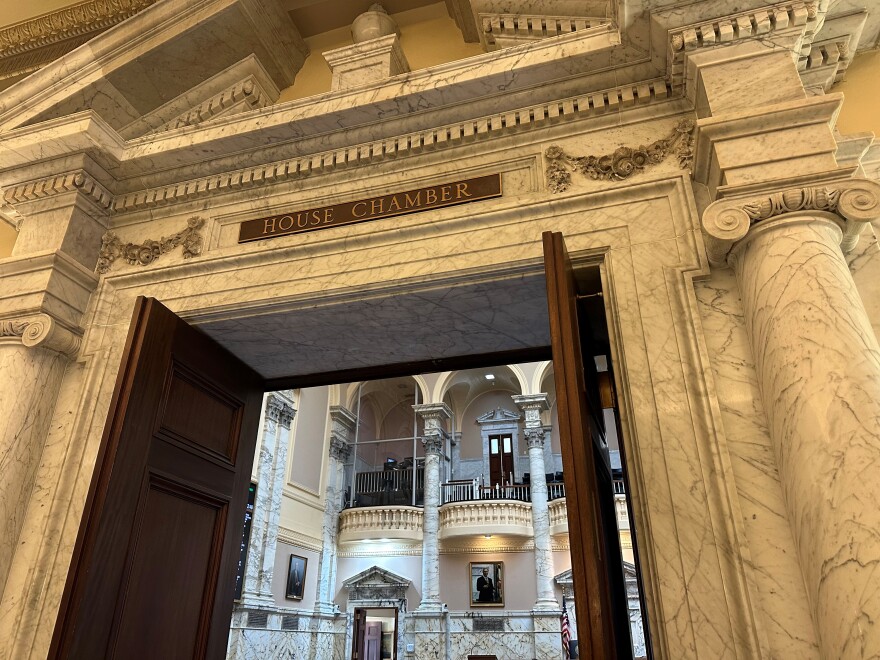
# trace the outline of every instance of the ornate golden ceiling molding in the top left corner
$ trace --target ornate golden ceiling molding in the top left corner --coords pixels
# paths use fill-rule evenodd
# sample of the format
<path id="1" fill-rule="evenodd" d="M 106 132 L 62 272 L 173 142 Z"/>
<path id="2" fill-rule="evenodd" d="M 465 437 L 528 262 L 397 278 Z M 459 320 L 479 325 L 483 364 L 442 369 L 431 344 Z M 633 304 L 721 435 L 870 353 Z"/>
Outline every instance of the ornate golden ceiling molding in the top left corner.
<path id="1" fill-rule="evenodd" d="M 0 79 L 36 71 L 156 0 L 87 0 L 0 29 Z"/>

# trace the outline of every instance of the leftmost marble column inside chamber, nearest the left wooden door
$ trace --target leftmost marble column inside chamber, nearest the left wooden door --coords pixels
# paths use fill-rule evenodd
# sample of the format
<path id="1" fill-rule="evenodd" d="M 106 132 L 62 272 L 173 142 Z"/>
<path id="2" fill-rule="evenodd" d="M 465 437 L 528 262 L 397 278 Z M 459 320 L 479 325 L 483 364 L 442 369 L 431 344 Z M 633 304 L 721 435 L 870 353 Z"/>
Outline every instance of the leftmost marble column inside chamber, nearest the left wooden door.
<path id="1" fill-rule="evenodd" d="M 257 492 L 241 591 L 242 607 L 275 605 L 272 575 L 275 572 L 290 425 L 296 414 L 292 403 L 282 392 L 270 392 L 265 397 L 263 433 L 256 466 Z"/>

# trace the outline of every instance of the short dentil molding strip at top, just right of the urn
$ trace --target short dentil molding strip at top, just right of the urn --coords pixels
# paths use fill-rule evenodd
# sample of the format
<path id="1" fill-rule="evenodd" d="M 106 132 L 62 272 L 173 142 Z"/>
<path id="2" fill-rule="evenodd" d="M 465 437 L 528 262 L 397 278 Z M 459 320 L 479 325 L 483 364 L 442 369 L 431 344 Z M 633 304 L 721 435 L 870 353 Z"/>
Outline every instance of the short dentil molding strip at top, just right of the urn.
<path id="1" fill-rule="evenodd" d="M 521 43 L 558 37 L 608 25 L 611 19 L 601 16 L 539 16 L 481 13 L 481 40 L 486 50 L 509 48 Z"/>

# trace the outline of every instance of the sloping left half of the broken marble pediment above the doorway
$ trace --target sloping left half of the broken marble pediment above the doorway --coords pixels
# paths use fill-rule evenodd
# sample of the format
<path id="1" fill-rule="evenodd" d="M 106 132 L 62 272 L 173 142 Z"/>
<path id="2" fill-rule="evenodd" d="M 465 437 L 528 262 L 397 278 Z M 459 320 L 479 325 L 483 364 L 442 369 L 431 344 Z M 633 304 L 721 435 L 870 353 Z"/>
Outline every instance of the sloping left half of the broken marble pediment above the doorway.
<path id="1" fill-rule="evenodd" d="M 191 125 L 274 102 L 307 54 L 275 0 L 160 0 L 5 90 L 0 130 L 86 110 L 126 137 Z"/>

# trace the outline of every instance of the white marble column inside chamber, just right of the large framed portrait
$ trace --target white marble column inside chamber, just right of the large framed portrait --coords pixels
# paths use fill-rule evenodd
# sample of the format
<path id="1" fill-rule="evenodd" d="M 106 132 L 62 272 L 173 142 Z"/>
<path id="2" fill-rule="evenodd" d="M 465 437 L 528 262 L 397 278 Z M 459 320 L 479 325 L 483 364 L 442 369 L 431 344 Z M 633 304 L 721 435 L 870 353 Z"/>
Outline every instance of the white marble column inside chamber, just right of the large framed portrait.
<path id="1" fill-rule="evenodd" d="M 553 589 L 553 547 L 550 540 L 550 510 L 547 504 L 547 477 L 544 465 L 544 425 L 541 413 L 550 409 L 546 394 L 513 397 L 525 415 L 525 436 L 531 471 L 532 528 L 535 532 L 535 610 L 559 610 Z"/>

